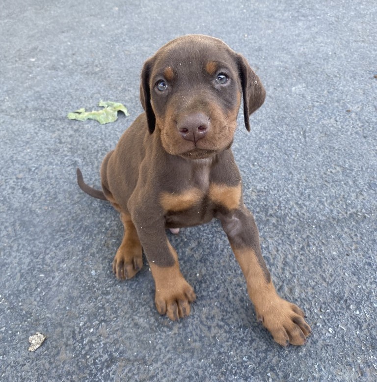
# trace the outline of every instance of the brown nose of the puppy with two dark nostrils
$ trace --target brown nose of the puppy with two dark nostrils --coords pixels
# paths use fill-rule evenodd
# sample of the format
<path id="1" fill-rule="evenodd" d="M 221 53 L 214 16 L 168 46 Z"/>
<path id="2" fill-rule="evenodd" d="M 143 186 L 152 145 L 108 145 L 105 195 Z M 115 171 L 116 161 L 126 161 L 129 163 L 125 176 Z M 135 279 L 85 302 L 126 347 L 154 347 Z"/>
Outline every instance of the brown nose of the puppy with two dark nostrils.
<path id="1" fill-rule="evenodd" d="M 189 114 L 178 121 L 177 128 L 184 139 L 197 142 L 208 133 L 210 121 L 203 113 Z"/>

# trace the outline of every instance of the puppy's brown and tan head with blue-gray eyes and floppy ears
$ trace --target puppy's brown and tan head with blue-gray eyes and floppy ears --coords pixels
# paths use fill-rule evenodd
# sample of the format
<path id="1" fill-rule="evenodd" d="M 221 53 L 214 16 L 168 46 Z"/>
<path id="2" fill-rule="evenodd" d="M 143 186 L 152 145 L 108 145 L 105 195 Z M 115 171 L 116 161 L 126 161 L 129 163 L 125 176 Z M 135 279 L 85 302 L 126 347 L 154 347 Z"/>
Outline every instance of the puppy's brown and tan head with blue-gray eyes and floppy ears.
<path id="1" fill-rule="evenodd" d="M 150 133 L 160 131 L 172 155 L 198 159 L 233 142 L 243 96 L 244 123 L 266 92 L 246 59 L 221 40 L 179 37 L 148 59 L 141 73 L 140 101 Z"/>

